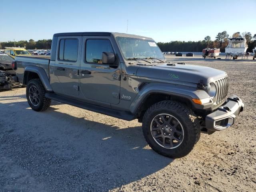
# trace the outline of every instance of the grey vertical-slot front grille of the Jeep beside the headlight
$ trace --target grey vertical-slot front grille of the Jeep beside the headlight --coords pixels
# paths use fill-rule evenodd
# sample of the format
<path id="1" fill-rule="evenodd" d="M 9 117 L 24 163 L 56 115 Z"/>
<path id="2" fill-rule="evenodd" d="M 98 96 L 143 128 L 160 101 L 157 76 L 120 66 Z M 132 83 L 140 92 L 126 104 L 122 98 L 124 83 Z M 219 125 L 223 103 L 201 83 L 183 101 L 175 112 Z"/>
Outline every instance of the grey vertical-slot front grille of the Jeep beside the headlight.
<path id="1" fill-rule="evenodd" d="M 228 95 L 228 77 L 215 81 L 216 92 L 216 104 L 219 104 L 227 98 Z"/>

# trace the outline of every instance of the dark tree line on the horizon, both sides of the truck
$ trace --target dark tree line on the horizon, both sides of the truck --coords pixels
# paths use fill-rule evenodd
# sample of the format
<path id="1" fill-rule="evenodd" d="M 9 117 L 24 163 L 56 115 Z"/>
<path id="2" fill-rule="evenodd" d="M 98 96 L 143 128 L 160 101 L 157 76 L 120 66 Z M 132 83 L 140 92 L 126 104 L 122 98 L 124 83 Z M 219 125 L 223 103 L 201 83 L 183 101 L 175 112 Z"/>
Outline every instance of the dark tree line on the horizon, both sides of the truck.
<path id="1" fill-rule="evenodd" d="M 232 36 L 229 36 L 229 34 L 226 31 L 218 33 L 215 37 L 215 40 L 211 40 L 210 36 L 206 36 L 202 41 L 171 41 L 166 43 L 158 42 L 157 44 L 163 52 L 202 52 L 204 48 L 220 48 L 221 52 L 225 52 L 225 47 L 228 45 L 229 37 L 245 38 L 248 44 L 247 52 L 252 52 L 252 49 L 256 47 L 256 40 L 252 40 L 252 38 L 256 39 L 256 34 L 252 36 L 250 32 L 236 32 Z M 16 47 L 26 47 L 26 49 L 50 49 L 51 44 L 51 39 L 43 39 L 38 41 L 30 39 L 29 41 L 21 40 L 15 42 Z M 4 49 L 4 47 L 13 46 L 13 41 L 0 43 L 0 49 Z"/>

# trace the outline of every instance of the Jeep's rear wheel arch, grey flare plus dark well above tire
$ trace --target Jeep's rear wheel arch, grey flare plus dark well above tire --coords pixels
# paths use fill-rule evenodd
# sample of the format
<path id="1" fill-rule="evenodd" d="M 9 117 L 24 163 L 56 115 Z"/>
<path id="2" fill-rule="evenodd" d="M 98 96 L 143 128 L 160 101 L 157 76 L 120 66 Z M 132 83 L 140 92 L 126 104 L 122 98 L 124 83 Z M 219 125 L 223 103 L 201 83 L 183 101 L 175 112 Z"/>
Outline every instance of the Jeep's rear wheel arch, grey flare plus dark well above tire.
<path id="1" fill-rule="evenodd" d="M 46 91 L 52 92 L 49 78 L 44 69 L 38 66 L 27 66 L 24 69 L 23 84 L 27 84 L 31 79 L 39 78 Z"/>

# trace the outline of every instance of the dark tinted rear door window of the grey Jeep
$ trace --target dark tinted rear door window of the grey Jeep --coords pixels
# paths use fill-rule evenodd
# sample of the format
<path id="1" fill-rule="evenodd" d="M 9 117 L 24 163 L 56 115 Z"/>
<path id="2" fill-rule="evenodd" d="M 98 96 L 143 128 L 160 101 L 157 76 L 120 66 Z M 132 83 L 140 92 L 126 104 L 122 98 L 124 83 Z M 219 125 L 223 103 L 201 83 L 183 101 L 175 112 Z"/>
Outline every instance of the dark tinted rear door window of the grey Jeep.
<path id="1" fill-rule="evenodd" d="M 61 39 L 59 45 L 59 59 L 76 61 L 78 54 L 78 39 Z"/>

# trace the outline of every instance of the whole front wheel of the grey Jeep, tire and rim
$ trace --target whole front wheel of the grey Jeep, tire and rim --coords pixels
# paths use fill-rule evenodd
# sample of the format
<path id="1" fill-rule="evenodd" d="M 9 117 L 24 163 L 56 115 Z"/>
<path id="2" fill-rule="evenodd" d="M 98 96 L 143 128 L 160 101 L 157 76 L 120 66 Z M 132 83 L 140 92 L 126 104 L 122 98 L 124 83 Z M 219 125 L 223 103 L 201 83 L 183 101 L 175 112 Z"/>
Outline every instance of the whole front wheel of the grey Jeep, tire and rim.
<path id="1" fill-rule="evenodd" d="M 170 158 L 186 156 L 200 138 L 196 115 L 176 101 L 161 101 L 148 108 L 142 130 L 149 146 Z"/>

